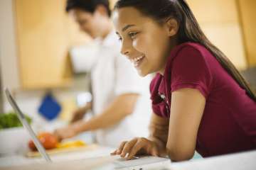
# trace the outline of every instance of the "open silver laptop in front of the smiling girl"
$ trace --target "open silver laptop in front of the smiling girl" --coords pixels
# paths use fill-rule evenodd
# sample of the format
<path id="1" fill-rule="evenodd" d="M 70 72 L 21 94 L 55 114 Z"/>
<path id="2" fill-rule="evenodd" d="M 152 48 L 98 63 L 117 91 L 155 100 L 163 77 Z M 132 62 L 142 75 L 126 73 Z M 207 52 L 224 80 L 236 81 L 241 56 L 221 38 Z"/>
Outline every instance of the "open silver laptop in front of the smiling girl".
<path id="1" fill-rule="evenodd" d="M 14 98 L 11 96 L 11 93 L 9 89 L 5 89 L 6 98 L 8 99 L 9 103 L 11 104 L 11 107 L 14 109 L 15 113 L 18 115 L 18 119 L 21 120 L 21 123 L 23 127 L 28 130 L 29 135 L 31 135 L 31 138 L 36 145 L 36 148 L 38 149 L 38 152 L 41 154 L 41 156 L 46 160 L 46 162 L 51 163 L 52 160 L 50 159 L 49 155 L 46 153 L 46 149 L 43 147 L 41 142 L 38 140 L 38 137 L 36 136 L 36 133 L 32 130 L 31 125 L 29 125 L 28 121 L 25 118 L 25 115 L 21 112 L 20 108 L 18 108 L 18 105 Z M 151 169 L 151 168 L 159 168 L 162 166 L 169 166 L 171 163 L 170 159 L 161 158 L 161 157 L 134 157 L 134 159 L 126 161 L 125 159 L 119 158 L 119 156 L 108 156 L 109 158 L 106 159 L 106 157 L 98 157 L 95 158 L 95 161 L 99 161 L 99 159 L 106 159 L 108 160 L 106 163 L 112 162 L 114 164 L 114 169 Z M 104 161 L 103 161 L 104 162 Z M 56 166 L 54 166 L 56 168 Z"/>

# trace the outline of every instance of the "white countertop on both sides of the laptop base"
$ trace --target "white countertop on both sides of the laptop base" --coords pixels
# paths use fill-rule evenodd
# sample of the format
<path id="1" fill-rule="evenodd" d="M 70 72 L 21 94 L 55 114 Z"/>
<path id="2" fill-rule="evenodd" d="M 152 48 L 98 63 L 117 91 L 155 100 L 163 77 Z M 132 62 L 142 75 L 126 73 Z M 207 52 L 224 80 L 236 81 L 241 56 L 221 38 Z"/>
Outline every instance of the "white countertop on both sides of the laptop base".
<path id="1" fill-rule="evenodd" d="M 41 169 L 61 169 L 61 170 L 82 170 L 114 169 L 112 162 L 117 157 L 110 157 L 112 148 L 99 147 L 94 151 L 73 152 L 51 156 L 53 164 L 47 164 L 44 159 L 28 159 L 21 155 L 0 157 L 0 170 L 41 170 Z M 97 168 L 95 168 L 97 165 Z M 207 159 L 196 159 L 188 162 L 171 162 L 169 166 L 157 168 L 162 170 L 255 170 L 256 150 L 252 152 L 242 152 L 239 154 L 229 154 Z M 151 169 L 153 170 L 153 169 Z"/>

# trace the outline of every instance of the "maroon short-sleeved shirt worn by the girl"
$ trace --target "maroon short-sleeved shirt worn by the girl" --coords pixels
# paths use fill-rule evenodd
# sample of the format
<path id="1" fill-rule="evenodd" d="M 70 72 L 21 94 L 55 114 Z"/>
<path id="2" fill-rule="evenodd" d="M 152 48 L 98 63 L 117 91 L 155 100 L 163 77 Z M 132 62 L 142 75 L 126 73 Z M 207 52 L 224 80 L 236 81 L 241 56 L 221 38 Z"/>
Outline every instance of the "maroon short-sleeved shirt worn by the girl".
<path id="1" fill-rule="evenodd" d="M 171 92 L 182 88 L 198 89 L 206 98 L 196 140 L 199 154 L 256 149 L 256 102 L 202 45 L 186 42 L 171 51 L 164 76 L 156 74 L 150 84 L 154 113 L 169 118 Z"/>

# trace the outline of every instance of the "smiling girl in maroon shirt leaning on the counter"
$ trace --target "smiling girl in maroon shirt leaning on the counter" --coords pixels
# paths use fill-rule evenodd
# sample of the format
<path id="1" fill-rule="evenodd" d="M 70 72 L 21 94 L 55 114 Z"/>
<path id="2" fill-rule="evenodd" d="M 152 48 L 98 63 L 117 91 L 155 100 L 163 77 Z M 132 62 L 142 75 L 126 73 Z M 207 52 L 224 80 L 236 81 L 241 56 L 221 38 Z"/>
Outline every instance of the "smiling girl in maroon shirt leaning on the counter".
<path id="1" fill-rule="evenodd" d="M 114 26 L 121 52 L 151 81 L 148 139 L 112 154 L 173 161 L 256 149 L 256 98 L 237 69 L 203 34 L 183 0 L 119 0 Z M 128 154 L 128 155 L 127 155 Z"/>

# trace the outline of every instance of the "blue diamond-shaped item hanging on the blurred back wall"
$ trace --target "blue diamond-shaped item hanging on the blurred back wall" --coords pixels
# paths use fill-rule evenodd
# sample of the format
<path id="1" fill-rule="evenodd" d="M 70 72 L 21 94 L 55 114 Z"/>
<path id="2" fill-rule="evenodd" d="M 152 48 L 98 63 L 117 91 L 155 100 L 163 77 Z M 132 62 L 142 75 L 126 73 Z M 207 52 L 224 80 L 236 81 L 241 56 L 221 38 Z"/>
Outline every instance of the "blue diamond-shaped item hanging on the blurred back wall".
<path id="1" fill-rule="evenodd" d="M 58 117 L 61 106 L 54 96 L 49 92 L 44 96 L 38 112 L 47 120 L 53 120 Z"/>

